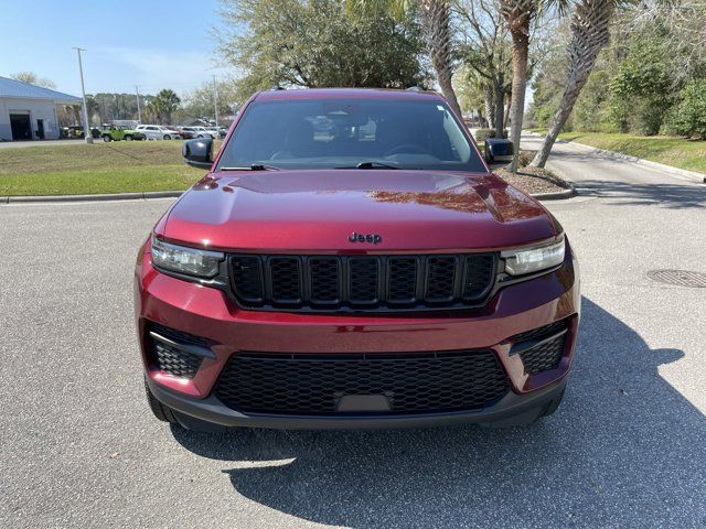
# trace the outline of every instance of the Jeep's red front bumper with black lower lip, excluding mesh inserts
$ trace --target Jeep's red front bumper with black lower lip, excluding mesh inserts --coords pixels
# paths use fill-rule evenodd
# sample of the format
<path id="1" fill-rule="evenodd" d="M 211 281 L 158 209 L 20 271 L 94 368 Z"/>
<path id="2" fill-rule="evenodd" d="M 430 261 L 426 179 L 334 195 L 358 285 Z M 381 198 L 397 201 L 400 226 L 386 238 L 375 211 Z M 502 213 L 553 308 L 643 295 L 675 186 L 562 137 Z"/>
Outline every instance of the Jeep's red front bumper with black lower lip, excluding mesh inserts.
<path id="1" fill-rule="evenodd" d="M 136 317 L 142 358 L 152 393 L 182 414 L 233 427 L 375 428 L 454 422 L 505 422 L 537 414 L 564 389 L 578 332 L 580 294 L 570 248 L 560 268 L 546 276 L 507 285 L 481 309 L 454 313 L 396 315 L 301 314 L 238 309 L 216 289 L 156 271 L 148 251 L 136 268 Z M 552 368 L 530 374 L 510 337 L 567 320 L 564 352 Z M 212 357 L 191 379 L 160 371 L 150 360 L 148 324 L 204 338 Z M 511 391 L 492 406 L 473 411 L 424 414 L 278 415 L 240 413 L 213 393 L 218 377 L 239 352 L 287 354 L 375 354 L 491 349 Z M 181 419 L 180 419 L 181 420 Z M 188 424 L 186 424 L 188 425 Z"/>

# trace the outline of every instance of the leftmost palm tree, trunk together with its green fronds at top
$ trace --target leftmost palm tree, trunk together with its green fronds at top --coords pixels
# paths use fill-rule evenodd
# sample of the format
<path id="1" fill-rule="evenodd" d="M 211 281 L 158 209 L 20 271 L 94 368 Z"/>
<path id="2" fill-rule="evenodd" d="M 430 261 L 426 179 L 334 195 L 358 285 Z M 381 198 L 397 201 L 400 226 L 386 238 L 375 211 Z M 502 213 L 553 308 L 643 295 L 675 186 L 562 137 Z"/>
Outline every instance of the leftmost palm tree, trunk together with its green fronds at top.
<path id="1" fill-rule="evenodd" d="M 451 85 L 451 0 L 347 0 L 353 13 L 387 12 L 394 18 L 409 17 L 417 10 L 425 35 L 427 53 L 437 74 L 439 87 L 451 108 L 461 116 L 456 91 Z"/>

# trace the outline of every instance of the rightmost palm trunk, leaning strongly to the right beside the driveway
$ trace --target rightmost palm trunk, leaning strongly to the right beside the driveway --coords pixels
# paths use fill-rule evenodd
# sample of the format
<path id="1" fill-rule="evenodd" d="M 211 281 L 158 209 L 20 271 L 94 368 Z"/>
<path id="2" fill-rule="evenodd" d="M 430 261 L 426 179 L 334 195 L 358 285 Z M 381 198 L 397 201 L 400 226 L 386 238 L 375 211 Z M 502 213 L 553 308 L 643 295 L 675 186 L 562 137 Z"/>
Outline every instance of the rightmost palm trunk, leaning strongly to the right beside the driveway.
<path id="1" fill-rule="evenodd" d="M 542 148 L 530 165 L 544 168 L 547 163 L 554 142 L 574 110 L 574 105 L 586 85 L 591 69 L 593 69 L 598 54 L 610 40 L 609 24 L 614 12 L 614 0 L 582 0 L 576 7 L 571 18 L 571 42 L 569 44 L 571 61 L 566 89 L 561 95 L 559 108 L 554 115 Z"/>

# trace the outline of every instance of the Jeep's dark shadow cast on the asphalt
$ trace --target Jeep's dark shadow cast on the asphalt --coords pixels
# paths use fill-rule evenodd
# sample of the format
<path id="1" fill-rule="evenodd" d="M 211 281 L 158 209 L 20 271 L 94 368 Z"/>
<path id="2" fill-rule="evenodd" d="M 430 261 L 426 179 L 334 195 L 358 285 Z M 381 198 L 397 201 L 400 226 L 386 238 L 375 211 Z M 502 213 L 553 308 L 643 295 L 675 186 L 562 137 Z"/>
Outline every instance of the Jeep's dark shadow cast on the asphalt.
<path id="1" fill-rule="evenodd" d="M 320 523 L 702 527 L 706 420 L 657 373 L 683 353 L 588 299 L 581 325 L 565 401 L 532 427 L 173 434 L 237 494 Z"/>

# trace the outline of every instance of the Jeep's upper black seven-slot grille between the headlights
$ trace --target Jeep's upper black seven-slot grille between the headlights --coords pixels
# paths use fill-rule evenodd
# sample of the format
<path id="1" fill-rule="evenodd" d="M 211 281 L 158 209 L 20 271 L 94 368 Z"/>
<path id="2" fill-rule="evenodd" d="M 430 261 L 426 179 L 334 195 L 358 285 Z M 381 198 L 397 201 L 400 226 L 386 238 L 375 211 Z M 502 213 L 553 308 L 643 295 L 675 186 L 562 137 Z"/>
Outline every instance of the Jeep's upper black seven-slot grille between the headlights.
<path id="1" fill-rule="evenodd" d="M 229 256 L 239 304 L 253 310 L 406 311 L 482 304 L 495 253 Z"/>

